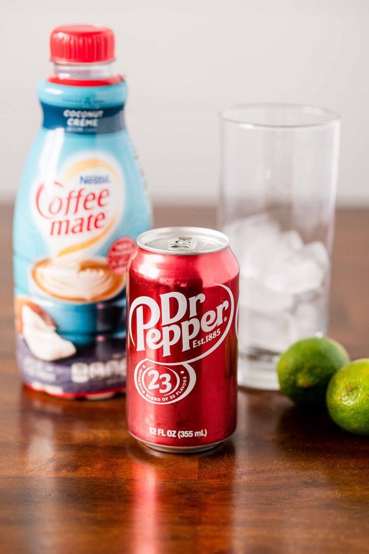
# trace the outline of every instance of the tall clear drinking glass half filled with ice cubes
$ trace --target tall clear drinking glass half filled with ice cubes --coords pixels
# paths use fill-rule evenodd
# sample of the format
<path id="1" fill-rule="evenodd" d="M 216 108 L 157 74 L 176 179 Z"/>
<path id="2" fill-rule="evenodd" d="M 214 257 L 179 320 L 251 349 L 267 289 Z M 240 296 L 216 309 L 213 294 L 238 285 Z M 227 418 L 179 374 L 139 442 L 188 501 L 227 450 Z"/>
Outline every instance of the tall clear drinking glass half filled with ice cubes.
<path id="1" fill-rule="evenodd" d="M 240 264 L 239 384 L 277 389 L 276 361 L 327 330 L 340 119 L 294 104 L 221 112 L 219 223 Z"/>

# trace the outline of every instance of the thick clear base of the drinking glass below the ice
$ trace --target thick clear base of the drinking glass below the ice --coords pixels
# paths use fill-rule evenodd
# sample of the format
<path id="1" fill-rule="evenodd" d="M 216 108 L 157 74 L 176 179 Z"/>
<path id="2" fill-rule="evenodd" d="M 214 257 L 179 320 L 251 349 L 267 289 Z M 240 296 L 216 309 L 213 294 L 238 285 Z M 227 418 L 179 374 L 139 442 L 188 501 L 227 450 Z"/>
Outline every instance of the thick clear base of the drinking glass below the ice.
<path id="1" fill-rule="evenodd" d="M 279 391 L 277 377 L 278 356 L 257 360 L 239 352 L 237 381 L 239 387 L 259 388 L 264 391 Z"/>

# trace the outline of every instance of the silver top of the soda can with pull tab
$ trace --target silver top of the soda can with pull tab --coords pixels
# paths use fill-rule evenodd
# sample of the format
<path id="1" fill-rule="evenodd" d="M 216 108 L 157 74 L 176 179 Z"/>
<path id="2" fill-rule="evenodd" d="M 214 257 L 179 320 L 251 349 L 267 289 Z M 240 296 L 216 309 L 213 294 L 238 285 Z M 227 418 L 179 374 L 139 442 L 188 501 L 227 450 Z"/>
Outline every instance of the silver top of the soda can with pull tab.
<path id="1" fill-rule="evenodd" d="M 229 238 L 220 231 L 202 227 L 162 227 L 140 234 L 137 244 L 156 254 L 195 256 L 224 250 L 229 246 Z"/>

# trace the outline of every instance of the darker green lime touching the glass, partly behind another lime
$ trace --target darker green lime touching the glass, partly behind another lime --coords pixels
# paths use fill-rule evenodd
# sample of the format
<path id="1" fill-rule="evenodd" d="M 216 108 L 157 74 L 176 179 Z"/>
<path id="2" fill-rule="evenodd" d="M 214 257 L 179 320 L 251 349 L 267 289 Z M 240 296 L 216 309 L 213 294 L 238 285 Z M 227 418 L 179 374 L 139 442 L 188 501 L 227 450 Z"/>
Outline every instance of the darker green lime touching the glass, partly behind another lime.
<path id="1" fill-rule="evenodd" d="M 297 341 L 279 358 L 281 391 L 300 406 L 322 407 L 330 378 L 348 362 L 345 348 L 331 338 Z"/>

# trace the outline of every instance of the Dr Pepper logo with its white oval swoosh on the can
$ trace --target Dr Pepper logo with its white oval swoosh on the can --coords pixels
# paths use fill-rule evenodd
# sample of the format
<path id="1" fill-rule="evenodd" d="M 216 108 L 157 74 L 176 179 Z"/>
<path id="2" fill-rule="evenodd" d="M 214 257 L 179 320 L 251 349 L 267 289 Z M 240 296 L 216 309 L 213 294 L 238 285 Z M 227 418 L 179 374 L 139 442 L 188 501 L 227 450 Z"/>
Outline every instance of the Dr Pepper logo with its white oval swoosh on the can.
<path id="1" fill-rule="evenodd" d="M 133 350 L 159 365 L 179 365 L 208 356 L 225 339 L 234 316 L 234 297 L 226 285 L 209 301 L 204 293 L 180 292 L 136 298 L 129 311 Z M 216 300 L 214 300 L 214 296 Z"/>

